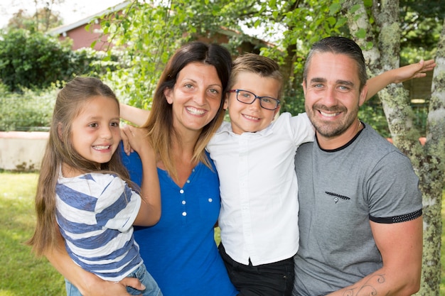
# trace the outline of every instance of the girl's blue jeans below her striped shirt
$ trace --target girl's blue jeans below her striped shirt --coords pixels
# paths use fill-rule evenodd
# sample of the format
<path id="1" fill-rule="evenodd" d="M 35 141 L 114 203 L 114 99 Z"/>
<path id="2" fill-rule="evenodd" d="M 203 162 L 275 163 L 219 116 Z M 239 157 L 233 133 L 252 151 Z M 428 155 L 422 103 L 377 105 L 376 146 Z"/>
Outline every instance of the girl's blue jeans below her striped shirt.
<path id="1" fill-rule="evenodd" d="M 158 284 L 151 277 L 150 273 L 146 270 L 145 265 L 142 264 L 134 270 L 134 272 L 127 275 L 127 278 L 138 278 L 141 283 L 145 286 L 145 290 L 136 290 L 133 287 L 127 287 L 127 292 L 131 295 L 142 295 L 142 296 L 162 296 L 161 289 L 159 289 Z M 82 296 L 75 285 L 70 283 L 65 279 L 65 288 L 67 296 Z"/>

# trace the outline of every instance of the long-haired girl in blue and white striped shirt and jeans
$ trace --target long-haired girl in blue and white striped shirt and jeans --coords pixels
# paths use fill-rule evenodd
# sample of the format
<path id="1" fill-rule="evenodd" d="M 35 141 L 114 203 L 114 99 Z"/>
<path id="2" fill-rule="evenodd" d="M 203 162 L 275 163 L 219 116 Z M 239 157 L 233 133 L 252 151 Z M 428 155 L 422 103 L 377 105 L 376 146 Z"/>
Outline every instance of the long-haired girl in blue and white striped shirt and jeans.
<path id="1" fill-rule="evenodd" d="M 120 139 L 119 102 L 107 85 L 76 77 L 59 92 L 38 180 L 36 230 L 28 244 L 41 256 L 58 244 L 60 230 L 77 265 L 104 280 L 138 278 L 146 287 L 143 295 L 159 296 L 132 227 L 154 225 L 161 216 L 155 154 L 149 141 L 134 147 L 144 160 L 139 196 L 116 152 Z M 68 296 L 81 295 L 68 280 L 66 290 Z M 131 287 L 128 292 L 140 294 Z"/>

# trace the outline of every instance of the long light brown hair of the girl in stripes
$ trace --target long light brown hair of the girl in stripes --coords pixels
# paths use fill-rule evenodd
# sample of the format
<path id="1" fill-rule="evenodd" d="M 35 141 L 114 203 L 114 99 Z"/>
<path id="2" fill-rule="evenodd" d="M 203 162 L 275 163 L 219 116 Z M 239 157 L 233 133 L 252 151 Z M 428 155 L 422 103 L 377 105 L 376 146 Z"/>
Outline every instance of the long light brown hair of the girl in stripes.
<path id="1" fill-rule="evenodd" d="M 93 77 L 76 77 L 58 93 L 50 126 L 50 136 L 43 154 L 36 191 L 36 229 L 26 243 L 41 256 L 48 248 L 56 246 L 58 226 L 55 221 L 55 185 L 60 165 L 65 163 L 82 172 L 112 172 L 129 185 L 129 174 L 122 165 L 119 152 L 112 155 L 108 163 L 102 163 L 100 170 L 90 160 L 83 158 L 73 148 L 71 126 L 82 106 L 92 97 L 102 96 L 119 102 L 112 89 Z"/>

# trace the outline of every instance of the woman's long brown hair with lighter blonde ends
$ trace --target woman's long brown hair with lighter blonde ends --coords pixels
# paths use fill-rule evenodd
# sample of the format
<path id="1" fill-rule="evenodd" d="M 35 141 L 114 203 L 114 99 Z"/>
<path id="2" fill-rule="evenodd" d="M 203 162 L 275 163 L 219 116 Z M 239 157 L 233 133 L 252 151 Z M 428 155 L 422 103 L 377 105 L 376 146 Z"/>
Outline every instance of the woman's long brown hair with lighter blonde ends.
<path id="1" fill-rule="evenodd" d="M 208 45 L 202 42 L 188 43 L 182 48 L 179 48 L 168 61 L 166 68 L 162 72 L 154 94 L 149 119 L 146 121 L 146 124 L 144 124 L 144 127 L 148 130 L 148 138 L 151 141 L 151 145 L 159 154 L 166 171 L 173 179 L 176 179 L 177 173 L 171 150 L 173 140 L 175 138 L 178 139 L 178 135 L 173 128 L 172 106 L 168 104 L 163 92 L 165 89 L 173 89 L 178 73 L 191 62 L 213 65 L 223 85 L 218 113 L 201 131 L 193 151 L 193 163 L 203 162 L 210 167 L 208 158 L 205 155 L 205 146 L 207 146 L 210 138 L 222 124 L 225 114 L 225 110 L 223 109 L 223 95 L 227 91 L 230 70 L 232 68 L 232 57 L 228 50 L 221 45 Z"/>

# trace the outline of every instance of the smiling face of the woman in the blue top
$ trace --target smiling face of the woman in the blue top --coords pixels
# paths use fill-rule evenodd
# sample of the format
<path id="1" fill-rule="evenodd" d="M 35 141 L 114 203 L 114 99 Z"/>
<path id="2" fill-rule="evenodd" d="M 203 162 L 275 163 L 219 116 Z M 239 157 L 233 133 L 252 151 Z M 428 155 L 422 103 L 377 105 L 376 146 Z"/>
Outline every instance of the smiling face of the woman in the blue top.
<path id="1" fill-rule="evenodd" d="M 173 89 L 164 91 L 172 104 L 176 131 L 201 131 L 218 112 L 223 86 L 215 67 L 192 62 L 179 72 Z"/>

